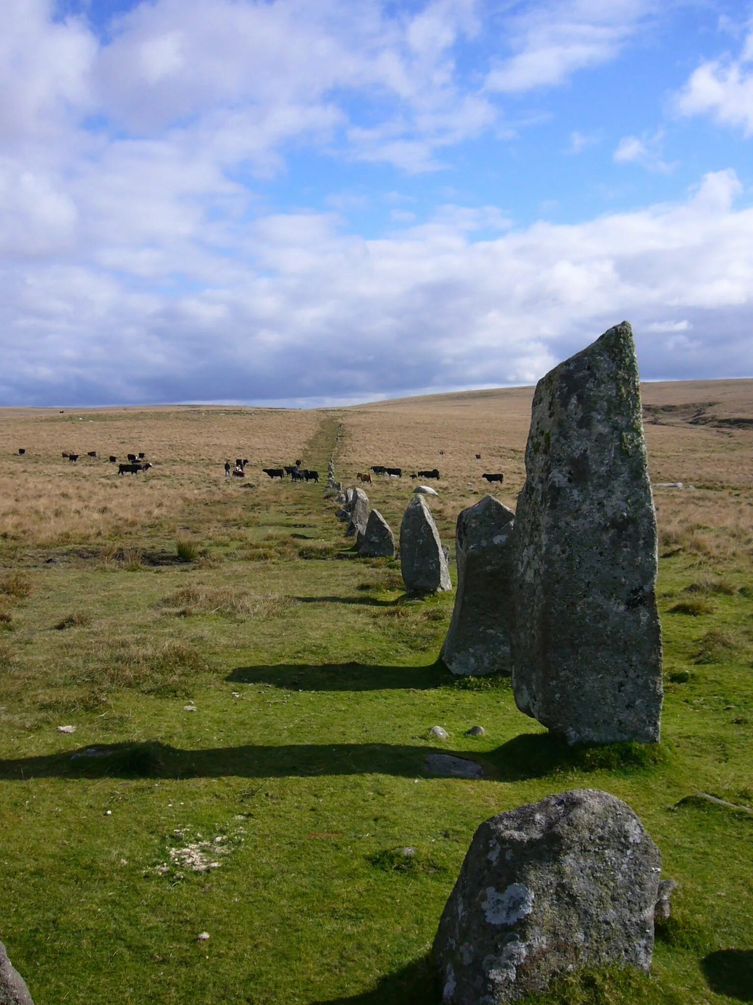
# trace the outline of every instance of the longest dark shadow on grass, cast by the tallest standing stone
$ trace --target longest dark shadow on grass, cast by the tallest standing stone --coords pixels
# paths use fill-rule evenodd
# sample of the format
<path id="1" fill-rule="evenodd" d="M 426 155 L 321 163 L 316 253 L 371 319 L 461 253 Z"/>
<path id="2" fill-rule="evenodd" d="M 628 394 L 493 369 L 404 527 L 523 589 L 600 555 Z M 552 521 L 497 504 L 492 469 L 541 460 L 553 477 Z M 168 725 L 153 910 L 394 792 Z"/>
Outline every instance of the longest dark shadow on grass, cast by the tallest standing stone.
<path id="1" fill-rule="evenodd" d="M 311 778 L 326 775 L 440 776 L 425 771 L 429 754 L 451 755 L 481 765 L 483 780 L 515 782 L 545 775 L 587 773 L 604 768 L 642 769 L 658 754 L 621 744 L 568 748 L 547 734 L 516 737 L 495 751 L 476 754 L 408 744 L 280 744 L 181 750 L 168 744 L 97 745 L 60 754 L 0 761 L 0 779 L 65 778 Z M 652 762 L 652 756 L 655 760 Z M 564 783 L 563 783 L 564 784 Z"/>

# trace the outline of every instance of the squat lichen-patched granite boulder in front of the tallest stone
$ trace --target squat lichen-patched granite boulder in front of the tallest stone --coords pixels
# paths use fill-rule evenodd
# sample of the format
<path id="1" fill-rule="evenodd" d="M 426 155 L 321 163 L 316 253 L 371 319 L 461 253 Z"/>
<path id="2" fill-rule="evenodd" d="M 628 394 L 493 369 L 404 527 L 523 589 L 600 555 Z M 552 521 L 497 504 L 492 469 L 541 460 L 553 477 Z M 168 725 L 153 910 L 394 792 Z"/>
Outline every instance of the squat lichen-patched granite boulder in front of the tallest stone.
<path id="1" fill-rule="evenodd" d="M 501 1005 L 580 967 L 649 970 L 662 857 L 614 796 L 579 789 L 482 823 L 434 941 L 445 1005 Z"/>

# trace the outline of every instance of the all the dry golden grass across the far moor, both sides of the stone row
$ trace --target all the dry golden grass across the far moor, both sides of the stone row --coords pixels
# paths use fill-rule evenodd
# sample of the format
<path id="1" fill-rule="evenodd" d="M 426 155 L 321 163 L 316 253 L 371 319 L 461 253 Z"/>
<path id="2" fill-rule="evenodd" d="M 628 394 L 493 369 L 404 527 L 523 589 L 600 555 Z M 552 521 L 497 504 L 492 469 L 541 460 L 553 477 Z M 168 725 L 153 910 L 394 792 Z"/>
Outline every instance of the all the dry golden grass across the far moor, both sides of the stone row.
<path id="1" fill-rule="evenodd" d="M 176 541 L 190 551 L 192 531 L 199 530 L 204 542 L 218 540 L 228 528 L 245 526 L 251 509 L 274 511 L 279 485 L 261 468 L 305 457 L 322 423 L 333 428 L 339 422 L 336 473 L 344 483 L 354 483 L 356 472 L 371 464 L 403 468 L 403 479 L 373 475 L 366 486 L 372 506 L 396 529 L 414 485 L 410 474 L 440 470 L 432 510 L 449 543 L 459 511 L 490 490 L 481 477 L 485 471 L 504 472 L 503 485 L 491 490 L 514 509 L 525 476 L 532 394 L 532 388 L 507 388 L 318 411 L 0 410 L 0 540 L 16 553 L 98 544 L 105 568 L 138 567 L 145 539 L 170 537 L 173 551 Z M 753 381 L 645 384 L 643 396 L 662 549 L 682 549 L 699 564 L 749 559 Z M 18 447 L 26 448 L 25 456 Z M 88 450 L 98 456 L 87 457 Z M 118 476 L 106 459 L 140 450 L 155 466 L 139 475 Z M 63 451 L 77 451 L 78 462 L 64 459 Z M 245 484 L 256 486 L 249 492 L 239 491 L 240 479 L 224 475 L 225 458 L 236 456 L 249 458 Z M 321 457 L 310 462 L 323 466 Z M 676 481 L 695 487 L 661 486 Z M 131 552 L 129 539 L 140 542 Z M 298 555 L 316 557 L 317 546 L 255 541 L 242 557 Z"/>

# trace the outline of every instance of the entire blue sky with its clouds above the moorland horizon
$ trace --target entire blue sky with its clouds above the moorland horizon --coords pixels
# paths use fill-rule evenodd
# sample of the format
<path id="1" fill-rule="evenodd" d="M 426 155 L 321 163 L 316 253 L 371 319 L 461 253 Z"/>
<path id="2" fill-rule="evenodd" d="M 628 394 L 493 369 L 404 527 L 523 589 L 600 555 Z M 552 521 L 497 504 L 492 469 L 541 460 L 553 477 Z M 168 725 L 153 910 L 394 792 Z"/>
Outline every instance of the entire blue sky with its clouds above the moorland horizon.
<path id="1" fill-rule="evenodd" d="M 753 376 L 753 4 L 7 0 L 0 404 Z"/>

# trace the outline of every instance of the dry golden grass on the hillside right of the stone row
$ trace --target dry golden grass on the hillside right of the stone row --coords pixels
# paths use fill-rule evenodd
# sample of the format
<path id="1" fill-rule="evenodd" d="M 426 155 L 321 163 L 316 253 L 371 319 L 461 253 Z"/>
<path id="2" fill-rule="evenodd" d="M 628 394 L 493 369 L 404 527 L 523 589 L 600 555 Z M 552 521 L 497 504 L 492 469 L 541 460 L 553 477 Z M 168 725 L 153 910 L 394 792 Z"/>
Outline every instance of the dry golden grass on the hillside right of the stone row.
<path id="1" fill-rule="evenodd" d="M 753 549 L 753 381 L 644 384 L 649 466 L 661 545 L 700 563 L 749 560 Z M 354 483 L 371 464 L 403 467 L 404 477 L 372 475 L 372 505 L 399 521 L 414 482 L 437 467 L 432 511 L 448 540 L 458 512 L 492 491 L 515 509 L 525 478 L 524 450 L 533 388 L 405 398 L 343 409 L 337 476 Z M 476 454 L 481 459 L 476 459 Z M 503 485 L 481 475 L 502 471 Z M 662 482 L 694 488 L 666 488 Z"/>

